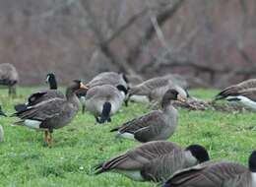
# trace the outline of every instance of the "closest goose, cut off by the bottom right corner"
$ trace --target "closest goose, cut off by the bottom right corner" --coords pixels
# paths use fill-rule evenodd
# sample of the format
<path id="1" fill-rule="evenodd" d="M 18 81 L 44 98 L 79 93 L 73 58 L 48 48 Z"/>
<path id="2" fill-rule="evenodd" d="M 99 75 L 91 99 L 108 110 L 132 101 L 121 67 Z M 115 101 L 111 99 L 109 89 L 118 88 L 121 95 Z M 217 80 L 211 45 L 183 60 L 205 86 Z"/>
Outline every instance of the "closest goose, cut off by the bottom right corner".
<path id="1" fill-rule="evenodd" d="M 177 171 L 163 187 L 256 187 L 256 152 L 249 169 L 229 161 L 209 161 Z"/>

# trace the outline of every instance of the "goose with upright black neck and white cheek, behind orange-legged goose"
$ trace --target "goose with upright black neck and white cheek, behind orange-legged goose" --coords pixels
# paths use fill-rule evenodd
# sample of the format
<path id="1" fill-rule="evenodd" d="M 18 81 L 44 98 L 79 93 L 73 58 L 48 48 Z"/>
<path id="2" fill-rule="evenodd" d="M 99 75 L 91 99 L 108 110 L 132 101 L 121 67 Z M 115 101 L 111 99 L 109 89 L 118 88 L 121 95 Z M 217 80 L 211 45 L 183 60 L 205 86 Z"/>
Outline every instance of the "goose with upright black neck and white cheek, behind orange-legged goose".
<path id="1" fill-rule="evenodd" d="M 54 97 L 65 98 L 65 94 L 62 94 L 60 91 L 57 91 L 58 86 L 57 86 L 57 81 L 54 74 L 52 73 L 47 74 L 46 83 L 49 84 L 50 90 L 39 91 L 31 94 L 28 98 L 28 102 L 25 104 L 15 105 L 15 110 L 16 111 L 26 110 L 26 108 L 29 106 L 35 105 L 43 100 L 47 100 Z"/>

